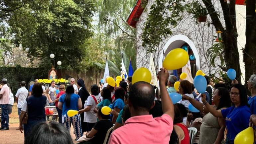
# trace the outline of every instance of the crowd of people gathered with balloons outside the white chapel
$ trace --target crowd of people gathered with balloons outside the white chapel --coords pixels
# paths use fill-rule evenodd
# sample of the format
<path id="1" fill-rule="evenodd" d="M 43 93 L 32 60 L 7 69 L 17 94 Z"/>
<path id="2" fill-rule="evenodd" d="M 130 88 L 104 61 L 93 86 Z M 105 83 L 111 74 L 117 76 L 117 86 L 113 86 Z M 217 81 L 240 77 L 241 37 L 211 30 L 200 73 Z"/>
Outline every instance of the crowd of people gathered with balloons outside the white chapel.
<path id="1" fill-rule="evenodd" d="M 205 76 L 208 86 L 202 94 L 187 80 L 181 80 L 176 91 L 174 83 L 178 78 L 163 68 L 158 74 L 159 86 L 143 81 L 132 84 L 132 77 L 128 77 L 119 87 L 107 83 L 92 85 L 90 93 L 82 79 L 76 81 L 77 85 L 71 79 L 66 87 L 56 86 L 53 80 L 48 89 L 35 80 L 29 91 L 22 81 L 15 95 L 19 130 L 24 132 L 27 144 L 37 141 L 71 144 L 71 125 L 79 144 L 102 144 L 110 128 L 113 128 L 110 144 L 190 144 L 188 128 L 194 127 L 197 129 L 194 144 L 232 144 L 239 132 L 256 125 L 255 76 L 247 81 L 251 96 L 236 80 L 228 90 L 225 84 L 214 84 L 208 76 Z M 0 129 L 8 130 L 8 110 L 13 101 L 7 79 L 2 80 L 0 88 Z M 181 94 L 182 100 L 173 104 L 169 93 Z M 190 111 L 190 104 L 200 112 Z M 46 122 L 50 119 L 45 114 L 46 106 L 56 107 L 58 123 Z M 112 109 L 107 115 L 102 112 L 105 106 Z M 69 116 L 68 110 L 78 112 Z M 52 120 L 56 118 L 53 116 Z"/>

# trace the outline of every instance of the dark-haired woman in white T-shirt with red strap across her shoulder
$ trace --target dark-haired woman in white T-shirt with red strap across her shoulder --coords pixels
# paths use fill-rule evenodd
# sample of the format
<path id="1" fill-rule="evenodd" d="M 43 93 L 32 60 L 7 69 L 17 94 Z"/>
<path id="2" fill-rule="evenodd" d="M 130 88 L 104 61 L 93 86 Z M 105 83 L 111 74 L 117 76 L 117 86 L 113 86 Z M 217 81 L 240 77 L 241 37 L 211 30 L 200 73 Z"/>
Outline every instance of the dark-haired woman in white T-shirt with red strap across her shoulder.
<path id="1" fill-rule="evenodd" d="M 93 109 L 99 103 L 99 99 L 97 97 L 98 94 L 99 94 L 98 86 L 92 85 L 91 95 L 85 101 L 84 108 L 78 111 L 78 113 L 84 112 L 83 121 L 86 124 L 85 131 L 90 131 L 93 128 L 94 124 L 97 122 L 97 116 L 96 116 L 96 113 L 93 112 Z"/>

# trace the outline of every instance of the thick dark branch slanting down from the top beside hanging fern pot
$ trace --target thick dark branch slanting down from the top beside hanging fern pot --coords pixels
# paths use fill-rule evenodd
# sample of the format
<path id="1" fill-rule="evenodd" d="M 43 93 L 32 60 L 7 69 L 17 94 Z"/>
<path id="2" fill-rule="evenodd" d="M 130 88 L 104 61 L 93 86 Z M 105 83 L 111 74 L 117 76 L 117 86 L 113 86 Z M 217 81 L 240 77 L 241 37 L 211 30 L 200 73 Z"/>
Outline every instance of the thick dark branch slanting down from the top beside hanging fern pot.
<path id="1" fill-rule="evenodd" d="M 221 30 L 222 32 L 224 32 L 224 28 L 223 28 L 222 24 L 219 21 L 217 12 L 215 11 L 215 8 L 212 5 L 211 0 L 202 0 L 202 1 L 203 1 L 204 5 L 205 5 L 206 9 L 209 12 L 209 15 L 211 17 L 211 21 L 212 21 L 216 31 Z"/>

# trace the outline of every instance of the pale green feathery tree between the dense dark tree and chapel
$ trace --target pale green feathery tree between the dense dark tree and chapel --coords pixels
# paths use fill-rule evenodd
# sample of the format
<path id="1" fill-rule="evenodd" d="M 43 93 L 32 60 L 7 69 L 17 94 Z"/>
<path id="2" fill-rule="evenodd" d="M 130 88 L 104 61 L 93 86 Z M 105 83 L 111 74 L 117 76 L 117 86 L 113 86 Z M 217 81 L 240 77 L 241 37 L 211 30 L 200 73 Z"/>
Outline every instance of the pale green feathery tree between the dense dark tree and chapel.
<path id="1" fill-rule="evenodd" d="M 113 47 L 105 51 L 118 67 L 123 51 L 128 60 L 131 57 L 132 66 L 136 68 L 136 29 L 126 23 L 135 3 L 135 0 L 98 0 L 97 3 L 98 27 L 113 43 Z M 129 67 L 129 61 L 125 66 Z M 126 70 L 128 72 L 128 68 Z"/>

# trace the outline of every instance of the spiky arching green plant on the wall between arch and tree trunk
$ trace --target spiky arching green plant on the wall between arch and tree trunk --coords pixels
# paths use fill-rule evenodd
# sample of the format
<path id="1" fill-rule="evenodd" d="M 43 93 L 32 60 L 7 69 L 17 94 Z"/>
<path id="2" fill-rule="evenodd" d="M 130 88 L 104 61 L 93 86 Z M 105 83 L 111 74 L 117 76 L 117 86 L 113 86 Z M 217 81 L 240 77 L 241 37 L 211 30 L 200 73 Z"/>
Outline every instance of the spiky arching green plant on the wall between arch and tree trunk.
<path id="1" fill-rule="evenodd" d="M 223 48 L 223 44 L 221 42 L 213 44 L 206 51 L 207 58 L 210 60 L 210 64 L 213 67 L 216 67 L 215 63 L 216 63 L 217 59 L 220 60 L 221 67 L 225 66 L 225 59 L 224 59 L 223 53 L 224 53 L 224 48 Z"/>

